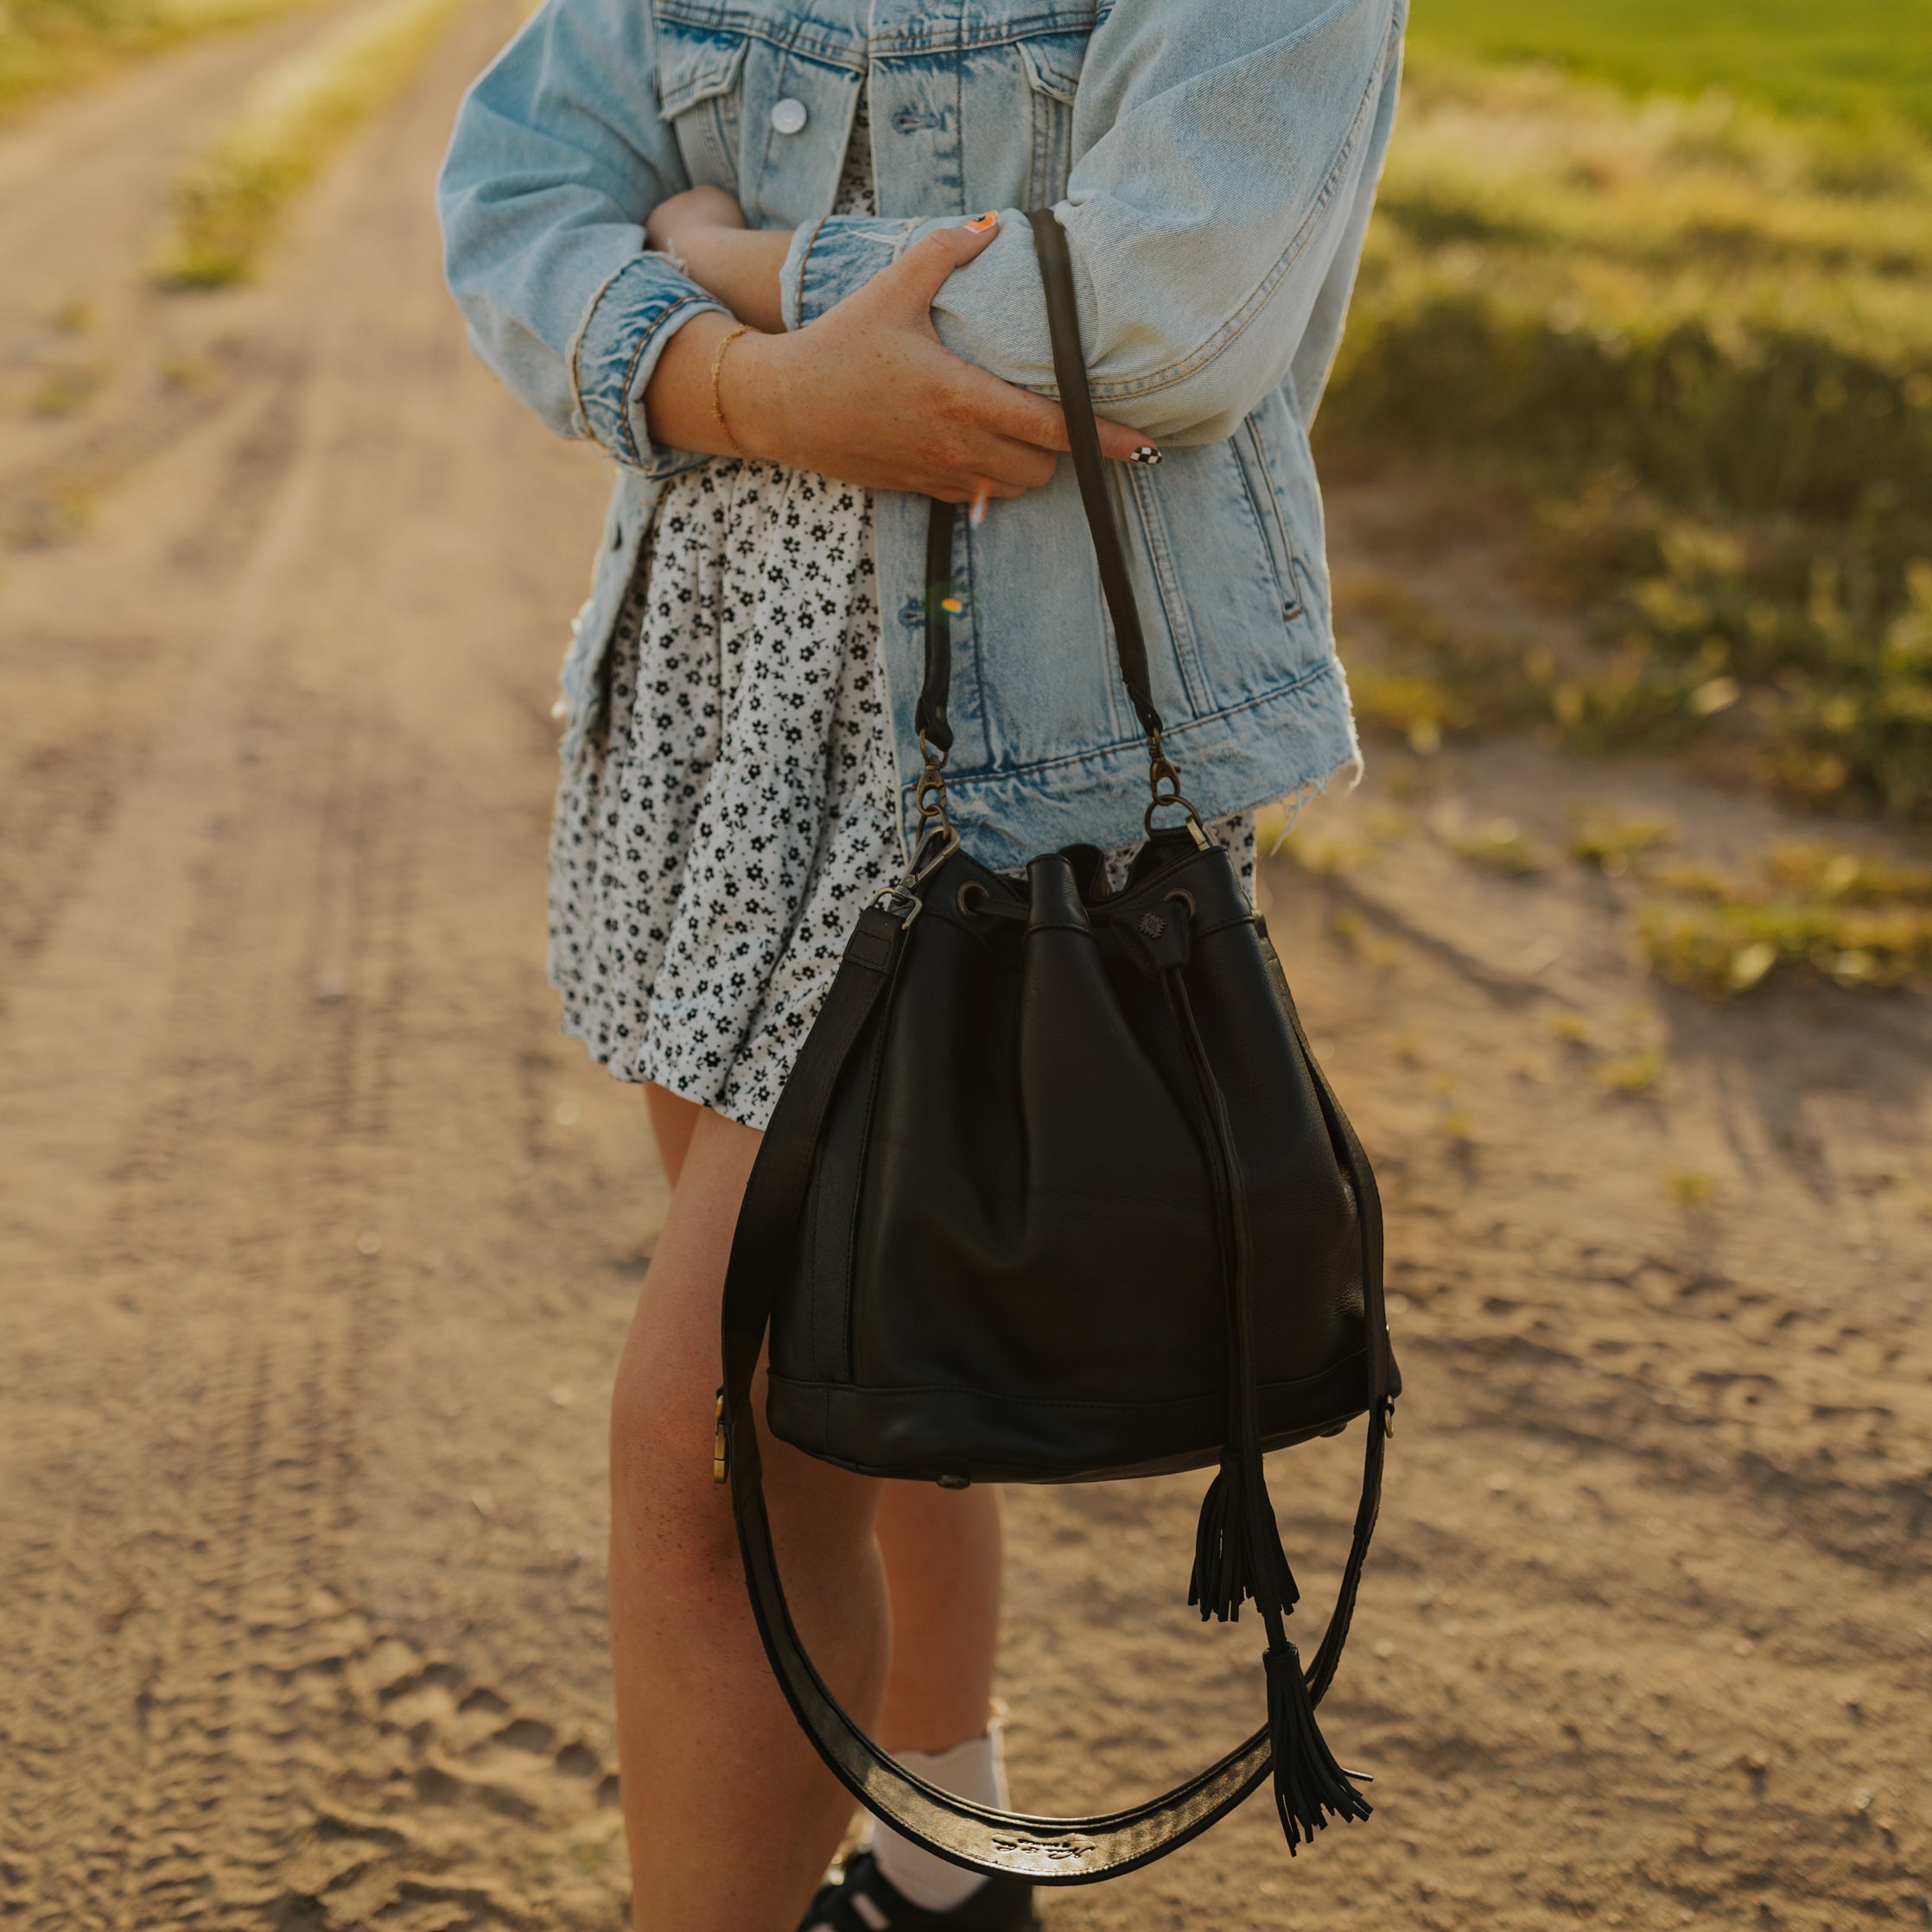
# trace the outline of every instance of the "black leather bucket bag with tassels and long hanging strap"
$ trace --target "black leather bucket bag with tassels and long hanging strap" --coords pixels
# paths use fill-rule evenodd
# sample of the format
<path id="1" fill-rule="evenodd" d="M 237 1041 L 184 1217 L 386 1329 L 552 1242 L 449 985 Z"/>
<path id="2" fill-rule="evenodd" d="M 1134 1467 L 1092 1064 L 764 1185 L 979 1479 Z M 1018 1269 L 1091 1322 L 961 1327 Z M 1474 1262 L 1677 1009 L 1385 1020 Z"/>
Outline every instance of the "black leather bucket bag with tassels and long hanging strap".
<path id="1" fill-rule="evenodd" d="M 933 506 L 922 838 L 846 945 L 746 1188 L 724 1287 L 717 1474 L 800 1723 L 852 1795 L 941 1857 L 1036 1884 L 1146 1864 L 1269 1777 L 1291 1851 L 1366 1818 L 1316 1725 L 1376 1522 L 1399 1393 L 1368 1157 L 1308 1051 L 1281 962 L 1161 750 L 1107 493 L 1066 243 L 1034 214 L 1074 466 L 1121 676 L 1148 732 L 1150 838 L 1024 879 L 947 815 L 952 510 Z M 1163 810 L 1180 813 L 1157 829 Z M 923 1783 L 840 1710 L 784 1605 L 752 1389 L 773 1435 L 869 1476 L 1090 1482 L 1213 1468 L 1188 1602 L 1267 1638 L 1267 1721 L 1132 1810 L 1030 1818 Z M 1366 1418 L 1341 1592 L 1304 1663 L 1265 1449 Z"/>

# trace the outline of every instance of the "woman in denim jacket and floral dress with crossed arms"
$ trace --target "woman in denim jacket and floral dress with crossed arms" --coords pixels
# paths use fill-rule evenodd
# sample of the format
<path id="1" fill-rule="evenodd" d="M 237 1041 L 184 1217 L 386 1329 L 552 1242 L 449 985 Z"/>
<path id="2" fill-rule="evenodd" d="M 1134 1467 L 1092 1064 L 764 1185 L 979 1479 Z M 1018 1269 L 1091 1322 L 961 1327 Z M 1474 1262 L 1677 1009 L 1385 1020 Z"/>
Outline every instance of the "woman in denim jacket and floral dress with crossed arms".
<path id="1" fill-rule="evenodd" d="M 1018 866 L 1132 852 L 1028 224 L 1055 205 L 1188 796 L 1356 763 L 1308 456 L 1387 143 L 1401 0 L 549 0 L 440 185 L 485 361 L 618 466 L 564 665 L 553 980 L 645 1086 L 672 1206 L 618 1368 L 611 1625 L 639 1932 L 1030 1924 L 848 1824 L 773 1685 L 711 1482 L 717 1318 L 759 1130 L 904 866 L 925 502 L 954 554 L 952 817 Z M 972 211 L 985 209 L 974 216 Z M 802 1633 L 935 1783 L 1005 1803 L 999 1501 L 765 1451 Z M 804 1918 L 802 1918 L 804 1915 Z"/>

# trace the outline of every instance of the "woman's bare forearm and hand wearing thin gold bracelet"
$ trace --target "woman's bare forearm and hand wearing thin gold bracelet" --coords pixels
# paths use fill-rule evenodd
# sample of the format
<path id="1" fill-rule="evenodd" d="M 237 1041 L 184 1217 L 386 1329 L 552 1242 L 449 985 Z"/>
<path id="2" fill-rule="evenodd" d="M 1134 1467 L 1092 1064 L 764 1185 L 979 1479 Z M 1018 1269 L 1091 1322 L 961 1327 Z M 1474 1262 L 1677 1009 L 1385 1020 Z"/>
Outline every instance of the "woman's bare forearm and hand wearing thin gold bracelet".
<path id="1" fill-rule="evenodd" d="M 939 228 L 806 328 L 740 336 L 719 371 L 736 452 L 945 502 L 1047 483 L 1066 448 L 1059 404 L 960 359 L 933 328 L 939 286 L 995 234 L 997 222 Z M 701 315 L 670 338 L 645 392 L 655 440 L 736 454 L 711 415 L 711 357 L 728 328 Z M 1099 440 L 1119 460 L 1151 448 L 1122 423 L 1101 421 Z"/>

